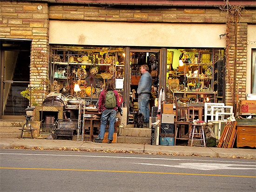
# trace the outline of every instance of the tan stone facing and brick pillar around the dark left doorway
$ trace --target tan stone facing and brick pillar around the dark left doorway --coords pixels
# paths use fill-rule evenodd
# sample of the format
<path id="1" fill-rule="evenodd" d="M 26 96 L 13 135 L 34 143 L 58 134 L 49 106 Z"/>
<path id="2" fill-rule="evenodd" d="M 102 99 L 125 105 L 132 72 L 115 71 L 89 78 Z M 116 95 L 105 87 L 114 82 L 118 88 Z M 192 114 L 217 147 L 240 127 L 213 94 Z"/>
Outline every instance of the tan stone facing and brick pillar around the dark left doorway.
<path id="1" fill-rule="evenodd" d="M 38 5 L 42 6 L 41 10 L 37 9 Z M 41 79 L 48 77 L 48 60 L 38 56 L 38 53 L 48 55 L 49 52 L 48 4 L 0 1 L 0 38 L 32 40 L 30 85 L 39 87 Z"/>

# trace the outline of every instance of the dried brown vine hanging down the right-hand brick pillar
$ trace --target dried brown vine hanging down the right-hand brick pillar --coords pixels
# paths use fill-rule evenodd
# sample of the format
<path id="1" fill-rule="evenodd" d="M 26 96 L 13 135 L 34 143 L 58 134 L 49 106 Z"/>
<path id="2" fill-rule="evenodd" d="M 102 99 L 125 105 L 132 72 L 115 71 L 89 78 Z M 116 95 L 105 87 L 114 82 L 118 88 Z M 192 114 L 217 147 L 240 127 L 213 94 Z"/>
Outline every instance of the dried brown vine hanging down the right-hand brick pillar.
<path id="1" fill-rule="evenodd" d="M 234 30 L 234 32 L 232 33 L 231 29 L 232 29 L 232 26 L 235 26 L 237 24 L 238 18 L 241 17 L 241 15 L 242 15 L 241 12 L 244 10 L 244 6 L 230 5 L 229 0 L 224 0 L 224 5 L 219 6 L 219 8 L 222 11 L 227 12 L 227 14 L 226 14 L 226 33 L 221 34 L 220 38 L 222 38 L 223 36 L 226 36 L 226 52 L 225 52 L 226 75 L 225 76 L 226 76 L 227 82 L 229 82 L 229 85 L 230 85 L 231 97 L 234 102 L 233 104 L 236 104 L 236 97 L 235 97 L 236 93 L 234 93 L 234 86 L 236 86 L 236 85 L 235 85 L 235 83 L 232 85 L 233 79 L 232 79 L 231 67 L 230 67 L 232 65 L 232 61 L 230 60 L 231 40 L 232 40 L 232 38 L 235 37 L 236 30 Z M 236 58 L 236 57 L 234 57 L 234 58 Z M 235 63 L 236 63 L 236 61 L 234 60 L 234 69 L 235 69 Z"/>

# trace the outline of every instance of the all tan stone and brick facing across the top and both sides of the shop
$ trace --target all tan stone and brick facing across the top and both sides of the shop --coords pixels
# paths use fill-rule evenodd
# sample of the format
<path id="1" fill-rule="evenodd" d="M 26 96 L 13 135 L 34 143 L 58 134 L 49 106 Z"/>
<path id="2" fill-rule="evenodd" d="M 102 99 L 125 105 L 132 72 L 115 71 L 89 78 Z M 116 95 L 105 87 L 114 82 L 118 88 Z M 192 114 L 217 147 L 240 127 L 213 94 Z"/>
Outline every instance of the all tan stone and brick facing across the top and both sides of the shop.
<path id="1" fill-rule="evenodd" d="M 42 10 L 37 10 L 37 5 Z M 83 5 L 48 5 L 42 2 L 0 2 L 0 37 L 32 39 L 33 48 L 48 53 L 48 17 L 49 20 L 87 20 L 87 21 L 120 21 L 120 22 L 168 22 L 168 23 L 225 23 L 226 13 L 216 8 L 122 8 L 94 7 Z M 246 52 L 247 52 L 247 23 L 256 24 L 256 10 L 244 12 L 240 18 L 237 76 L 239 82 L 239 97 L 245 99 L 246 86 Z M 230 50 L 231 69 L 234 60 L 234 40 Z M 31 68 L 31 84 L 39 86 L 40 78 L 47 77 L 47 64 L 37 62 L 38 68 Z M 234 75 L 234 73 L 232 73 Z M 226 104 L 232 105 L 229 82 L 226 86 Z"/>

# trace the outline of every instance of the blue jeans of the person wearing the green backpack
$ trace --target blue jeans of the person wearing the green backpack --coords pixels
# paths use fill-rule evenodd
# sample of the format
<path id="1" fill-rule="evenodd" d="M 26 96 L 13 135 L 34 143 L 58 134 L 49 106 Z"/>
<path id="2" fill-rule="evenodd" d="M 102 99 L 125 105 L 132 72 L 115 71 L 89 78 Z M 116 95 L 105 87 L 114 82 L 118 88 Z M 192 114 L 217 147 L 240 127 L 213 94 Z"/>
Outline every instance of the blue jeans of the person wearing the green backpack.
<path id="1" fill-rule="evenodd" d="M 101 127 L 100 127 L 100 134 L 98 136 L 99 139 L 104 139 L 106 125 L 109 118 L 108 140 L 113 140 L 115 115 L 116 115 L 115 109 L 105 109 L 101 113 Z"/>

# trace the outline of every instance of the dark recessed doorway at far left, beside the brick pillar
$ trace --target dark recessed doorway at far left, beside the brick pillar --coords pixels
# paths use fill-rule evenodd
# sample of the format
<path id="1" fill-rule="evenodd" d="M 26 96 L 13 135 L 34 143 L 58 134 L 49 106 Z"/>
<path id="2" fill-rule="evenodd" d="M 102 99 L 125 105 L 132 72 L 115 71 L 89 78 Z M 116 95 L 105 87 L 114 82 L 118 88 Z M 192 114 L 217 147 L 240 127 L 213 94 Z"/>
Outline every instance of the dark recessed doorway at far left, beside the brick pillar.
<path id="1" fill-rule="evenodd" d="M 31 41 L 0 40 L 0 119 L 23 119 L 29 101 L 21 96 L 29 85 Z"/>

